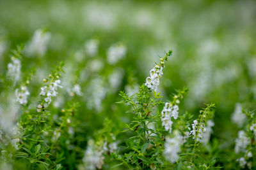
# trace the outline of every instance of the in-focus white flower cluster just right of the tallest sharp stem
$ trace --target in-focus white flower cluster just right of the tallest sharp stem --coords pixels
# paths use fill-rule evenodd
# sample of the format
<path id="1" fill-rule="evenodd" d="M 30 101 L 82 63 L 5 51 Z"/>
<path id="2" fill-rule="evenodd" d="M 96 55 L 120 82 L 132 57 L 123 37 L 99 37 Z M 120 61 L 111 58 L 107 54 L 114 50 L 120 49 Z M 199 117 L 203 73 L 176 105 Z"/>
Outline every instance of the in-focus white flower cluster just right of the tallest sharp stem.
<path id="1" fill-rule="evenodd" d="M 173 122 L 171 118 L 172 117 L 174 119 L 178 118 L 178 114 L 179 114 L 178 110 L 179 110 L 178 105 L 172 106 L 172 104 L 170 103 L 165 103 L 164 108 L 161 112 L 162 125 L 164 126 L 165 131 L 170 131 L 170 133 L 172 132 Z"/>

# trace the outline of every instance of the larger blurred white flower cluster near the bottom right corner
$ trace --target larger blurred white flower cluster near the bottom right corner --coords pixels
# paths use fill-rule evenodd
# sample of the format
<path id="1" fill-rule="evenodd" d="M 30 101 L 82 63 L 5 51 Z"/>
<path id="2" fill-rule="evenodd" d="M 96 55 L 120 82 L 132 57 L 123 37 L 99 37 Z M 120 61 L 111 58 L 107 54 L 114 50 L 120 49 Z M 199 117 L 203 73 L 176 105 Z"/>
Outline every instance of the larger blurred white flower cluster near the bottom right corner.
<path id="1" fill-rule="evenodd" d="M 250 144 L 250 139 L 247 138 L 244 131 L 238 132 L 238 138 L 236 138 L 235 152 L 245 152 L 246 147 Z"/>

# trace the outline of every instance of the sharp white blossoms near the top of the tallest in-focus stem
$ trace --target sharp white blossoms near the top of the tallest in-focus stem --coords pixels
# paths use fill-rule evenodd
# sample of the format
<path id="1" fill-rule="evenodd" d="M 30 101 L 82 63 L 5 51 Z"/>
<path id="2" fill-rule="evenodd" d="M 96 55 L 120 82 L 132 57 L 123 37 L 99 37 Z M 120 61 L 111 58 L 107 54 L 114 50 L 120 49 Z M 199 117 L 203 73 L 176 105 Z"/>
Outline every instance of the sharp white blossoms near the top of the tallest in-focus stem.
<path id="1" fill-rule="evenodd" d="M 161 78 L 161 76 L 163 76 L 163 67 L 156 65 L 150 70 L 150 76 L 147 77 L 145 86 L 156 92 L 157 87 L 159 86 L 159 78 Z"/>

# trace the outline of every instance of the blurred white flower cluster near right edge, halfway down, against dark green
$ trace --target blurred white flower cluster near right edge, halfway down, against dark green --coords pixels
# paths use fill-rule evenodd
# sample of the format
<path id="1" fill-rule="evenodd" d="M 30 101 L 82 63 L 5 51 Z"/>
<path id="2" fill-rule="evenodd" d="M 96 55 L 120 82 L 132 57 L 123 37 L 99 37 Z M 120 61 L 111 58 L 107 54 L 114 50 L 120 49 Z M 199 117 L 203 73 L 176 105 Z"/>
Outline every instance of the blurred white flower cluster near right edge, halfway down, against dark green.
<path id="1" fill-rule="evenodd" d="M 242 125 L 244 124 L 246 120 L 246 115 L 244 115 L 242 111 L 242 106 L 240 103 L 236 103 L 236 107 L 234 112 L 232 113 L 231 119 L 232 119 L 232 122 L 237 124 L 239 127 L 242 127 Z"/>

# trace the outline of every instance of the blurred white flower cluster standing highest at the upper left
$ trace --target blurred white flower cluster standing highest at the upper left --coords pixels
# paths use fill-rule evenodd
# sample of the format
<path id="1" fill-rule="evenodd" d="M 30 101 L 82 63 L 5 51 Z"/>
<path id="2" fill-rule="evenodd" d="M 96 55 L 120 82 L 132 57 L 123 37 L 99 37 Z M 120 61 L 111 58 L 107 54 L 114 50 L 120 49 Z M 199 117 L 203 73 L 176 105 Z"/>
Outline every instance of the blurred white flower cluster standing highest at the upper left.
<path id="1" fill-rule="evenodd" d="M 38 55 L 43 56 L 47 51 L 47 46 L 51 39 L 51 33 L 45 32 L 42 29 L 38 29 L 35 31 L 32 40 L 28 43 L 25 48 L 25 52 L 28 56 Z"/>

